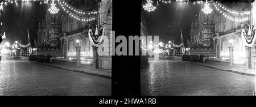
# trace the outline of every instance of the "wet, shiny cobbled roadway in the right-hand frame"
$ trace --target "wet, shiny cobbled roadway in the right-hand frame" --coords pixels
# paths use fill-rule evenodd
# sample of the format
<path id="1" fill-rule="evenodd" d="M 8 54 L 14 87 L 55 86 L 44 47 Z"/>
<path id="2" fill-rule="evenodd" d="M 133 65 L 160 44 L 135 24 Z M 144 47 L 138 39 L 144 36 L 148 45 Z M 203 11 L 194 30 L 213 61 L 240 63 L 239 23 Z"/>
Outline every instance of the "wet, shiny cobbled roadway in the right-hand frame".
<path id="1" fill-rule="evenodd" d="M 253 95 L 255 77 L 174 60 L 141 69 L 142 95 Z"/>

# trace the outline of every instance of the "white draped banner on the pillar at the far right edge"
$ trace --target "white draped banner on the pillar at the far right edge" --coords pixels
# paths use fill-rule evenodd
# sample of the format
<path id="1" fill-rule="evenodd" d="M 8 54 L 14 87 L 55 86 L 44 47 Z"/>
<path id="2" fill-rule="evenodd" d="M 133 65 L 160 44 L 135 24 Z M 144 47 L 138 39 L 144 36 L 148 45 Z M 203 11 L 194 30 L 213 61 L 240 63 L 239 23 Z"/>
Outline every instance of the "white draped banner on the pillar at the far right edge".
<path id="1" fill-rule="evenodd" d="M 255 31 L 256 27 L 253 25 L 253 31 L 251 31 L 250 27 L 248 32 L 246 33 L 245 29 L 242 29 L 241 36 L 242 36 L 242 41 L 243 45 L 252 47 L 255 42 Z"/>

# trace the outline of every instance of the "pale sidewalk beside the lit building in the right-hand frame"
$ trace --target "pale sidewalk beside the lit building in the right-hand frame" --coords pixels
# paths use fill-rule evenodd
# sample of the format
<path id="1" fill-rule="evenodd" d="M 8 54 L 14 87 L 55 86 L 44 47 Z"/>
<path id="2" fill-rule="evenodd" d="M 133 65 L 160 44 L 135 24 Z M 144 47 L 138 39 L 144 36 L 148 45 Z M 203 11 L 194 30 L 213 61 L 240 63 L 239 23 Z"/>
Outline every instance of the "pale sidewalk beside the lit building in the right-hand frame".
<path id="1" fill-rule="evenodd" d="M 175 59 L 175 60 L 177 60 L 177 59 Z M 179 60 L 179 61 L 181 61 L 181 60 Z M 230 66 L 229 64 L 210 63 L 210 62 L 189 62 L 189 61 L 182 61 L 182 62 L 187 62 L 187 63 L 191 63 L 193 65 L 210 67 L 212 69 L 234 72 L 234 73 L 237 73 L 237 74 L 248 75 L 248 76 L 255 76 L 255 74 L 256 74 L 255 73 L 256 69 L 249 69 L 247 67 L 237 66 L 237 65 Z"/>

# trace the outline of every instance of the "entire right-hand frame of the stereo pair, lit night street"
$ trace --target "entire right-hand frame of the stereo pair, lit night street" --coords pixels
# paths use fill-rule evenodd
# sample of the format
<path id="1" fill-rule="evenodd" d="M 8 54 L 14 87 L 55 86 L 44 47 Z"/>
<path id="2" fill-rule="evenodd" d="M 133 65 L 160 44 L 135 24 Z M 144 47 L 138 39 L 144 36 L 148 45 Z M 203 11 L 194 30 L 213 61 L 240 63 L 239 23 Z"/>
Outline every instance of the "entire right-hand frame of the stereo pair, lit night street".
<path id="1" fill-rule="evenodd" d="M 143 0 L 141 12 L 153 38 L 141 39 L 141 95 L 255 96 L 255 1 Z"/>

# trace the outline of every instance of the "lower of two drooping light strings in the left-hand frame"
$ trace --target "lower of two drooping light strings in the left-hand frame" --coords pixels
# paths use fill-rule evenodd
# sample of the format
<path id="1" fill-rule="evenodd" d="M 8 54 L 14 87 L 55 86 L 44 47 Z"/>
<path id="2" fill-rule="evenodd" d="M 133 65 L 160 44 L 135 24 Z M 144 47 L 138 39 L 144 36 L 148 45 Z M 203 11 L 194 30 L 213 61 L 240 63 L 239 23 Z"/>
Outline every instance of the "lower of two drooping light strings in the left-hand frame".
<path id="1" fill-rule="evenodd" d="M 90 22 L 90 21 L 96 19 L 96 18 L 95 18 L 96 16 L 92 16 L 92 17 L 90 17 L 90 18 L 82 18 L 81 16 L 78 16 L 78 15 L 76 15 L 76 14 L 73 14 L 71 11 L 69 11 L 68 8 L 65 7 L 62 2 L 59 2 L 59 3 L 60 3 L 61 8 L 62 8 L 67 14 L 69 14 L 72 18 L 74 18 L 74 19 L 81 20 L 81 21 L 83 21 L 83 22 Z"/>

